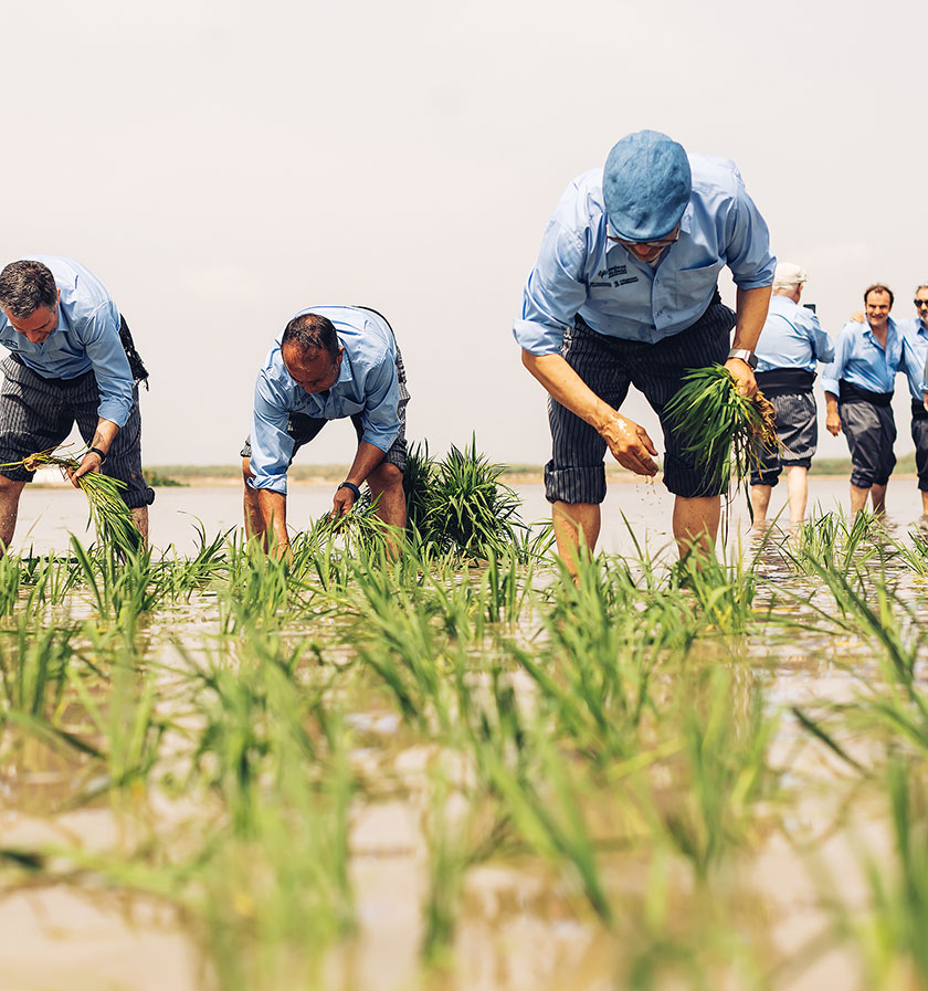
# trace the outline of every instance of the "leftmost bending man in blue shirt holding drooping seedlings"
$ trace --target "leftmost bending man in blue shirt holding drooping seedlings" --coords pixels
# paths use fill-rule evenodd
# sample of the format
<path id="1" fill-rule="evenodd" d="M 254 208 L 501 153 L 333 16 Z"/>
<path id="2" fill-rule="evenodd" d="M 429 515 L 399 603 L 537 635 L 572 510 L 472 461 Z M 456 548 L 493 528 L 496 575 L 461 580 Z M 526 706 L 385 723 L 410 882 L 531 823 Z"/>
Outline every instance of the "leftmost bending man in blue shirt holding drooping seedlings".
<path id="1" fill-rule="evenodd" d="M 143 536 L 155 493 L 141 475 L 138 382 L 148 377 L 106 286 L 72 259 L 38 255 L 0 272 L 2 363 L 0 464 L 56 447 L 74 423 L 88 445 L 71 476 L 103 472 L 125 482 L 123 498 Z M 34 472 L 0 470 L 0 554 Z"/>

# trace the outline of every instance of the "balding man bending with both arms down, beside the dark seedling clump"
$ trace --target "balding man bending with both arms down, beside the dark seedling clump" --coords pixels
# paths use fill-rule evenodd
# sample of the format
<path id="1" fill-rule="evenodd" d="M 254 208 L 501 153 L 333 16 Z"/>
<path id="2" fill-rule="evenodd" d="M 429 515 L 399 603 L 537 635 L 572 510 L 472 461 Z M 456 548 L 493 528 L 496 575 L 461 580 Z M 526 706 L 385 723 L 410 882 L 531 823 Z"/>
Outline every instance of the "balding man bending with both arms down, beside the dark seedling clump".
<path id="1" fill-rule="evenodd" d="M 358 450 L 333 498 L 347 513 L 367 482 L 377 515 L 405 526 L 405 405 L 402 357 L 387 320 L 363 306 L 314 306 L 274 341 L 254 390 L 250 437 L 242 449 L 245 533 L 289 548 L 287 468 L 329 420 L 350 417 Z M 268 540 L 270 535 L 270 540 Z"/>

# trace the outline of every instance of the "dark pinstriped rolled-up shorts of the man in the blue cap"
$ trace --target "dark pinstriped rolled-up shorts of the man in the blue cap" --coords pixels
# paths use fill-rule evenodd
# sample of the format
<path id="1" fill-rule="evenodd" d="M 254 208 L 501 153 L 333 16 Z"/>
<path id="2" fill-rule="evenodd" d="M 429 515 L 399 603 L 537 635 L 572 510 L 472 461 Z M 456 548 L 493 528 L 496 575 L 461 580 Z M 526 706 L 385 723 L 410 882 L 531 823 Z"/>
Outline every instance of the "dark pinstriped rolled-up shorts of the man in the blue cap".
<path id="1" fill-rule="evenodd" d="M 716 299 L 718 297 L 716 296 Z M 690 368 L 721 365 L 728 356 L 735 314 L 715 299 L 686 330 L 657 344 L 623 340 L 597 334 L 577 317 L 563 337 L 561 355 L 601 399 L 616 410 L 629 392 L 640 389 L 661 418 L 664 429 L 664 485 L 686 498 L 720 495 L 707 486 L 705 470 L 685 452 L 692 437 L 671 431 L 664 408 Z M 553 454 L 545 466 L 545 495 L 549 503 L 601 503 L 605 498 L 607 443 L 589 423 L 553 399 L 548 401 Z"/>

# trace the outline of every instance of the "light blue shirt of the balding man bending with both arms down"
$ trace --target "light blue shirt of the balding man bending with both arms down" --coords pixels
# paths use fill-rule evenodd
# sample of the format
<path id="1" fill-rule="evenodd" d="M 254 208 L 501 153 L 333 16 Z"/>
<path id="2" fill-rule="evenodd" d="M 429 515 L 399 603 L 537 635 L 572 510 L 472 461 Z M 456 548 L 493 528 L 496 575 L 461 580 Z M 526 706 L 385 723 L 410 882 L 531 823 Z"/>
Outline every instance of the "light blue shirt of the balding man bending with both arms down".
<path id="1" fill-rule="evenodd" d="M 360 413 L 362 441 L 387 452 L 400 432 L 400 383 L 397 345 L 386 320 L 354 306 L 310 306 L 295 316 L 315 313 L 335 325 L 345 348 L 338 380 L 325 392 L 309 393 L 291 378 L 277 337 L 264 359 L 254 387 L 251 430 L 252 488 L 286 495 L 287 468 L 294 441 L 287 433 L 291 413 L 339 420 Z M 283 335 L 282 335 L 283 336 Z"/>

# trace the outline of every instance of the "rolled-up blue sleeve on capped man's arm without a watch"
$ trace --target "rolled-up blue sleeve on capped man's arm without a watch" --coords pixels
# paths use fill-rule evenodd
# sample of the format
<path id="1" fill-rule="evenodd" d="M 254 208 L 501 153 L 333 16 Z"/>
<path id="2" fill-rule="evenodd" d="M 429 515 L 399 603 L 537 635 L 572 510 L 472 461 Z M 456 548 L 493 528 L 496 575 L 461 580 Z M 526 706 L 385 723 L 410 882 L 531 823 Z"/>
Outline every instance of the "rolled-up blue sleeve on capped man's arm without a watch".
<path id="1" fill-rule="evenodd" d="M 582 278 L 586 246 L 572 231 L 550 221 L 541 239 L 538 261 L 523 292 L 513 335 L 531 355 L 557 355 L 563 331 L 587 301 Z"/>

